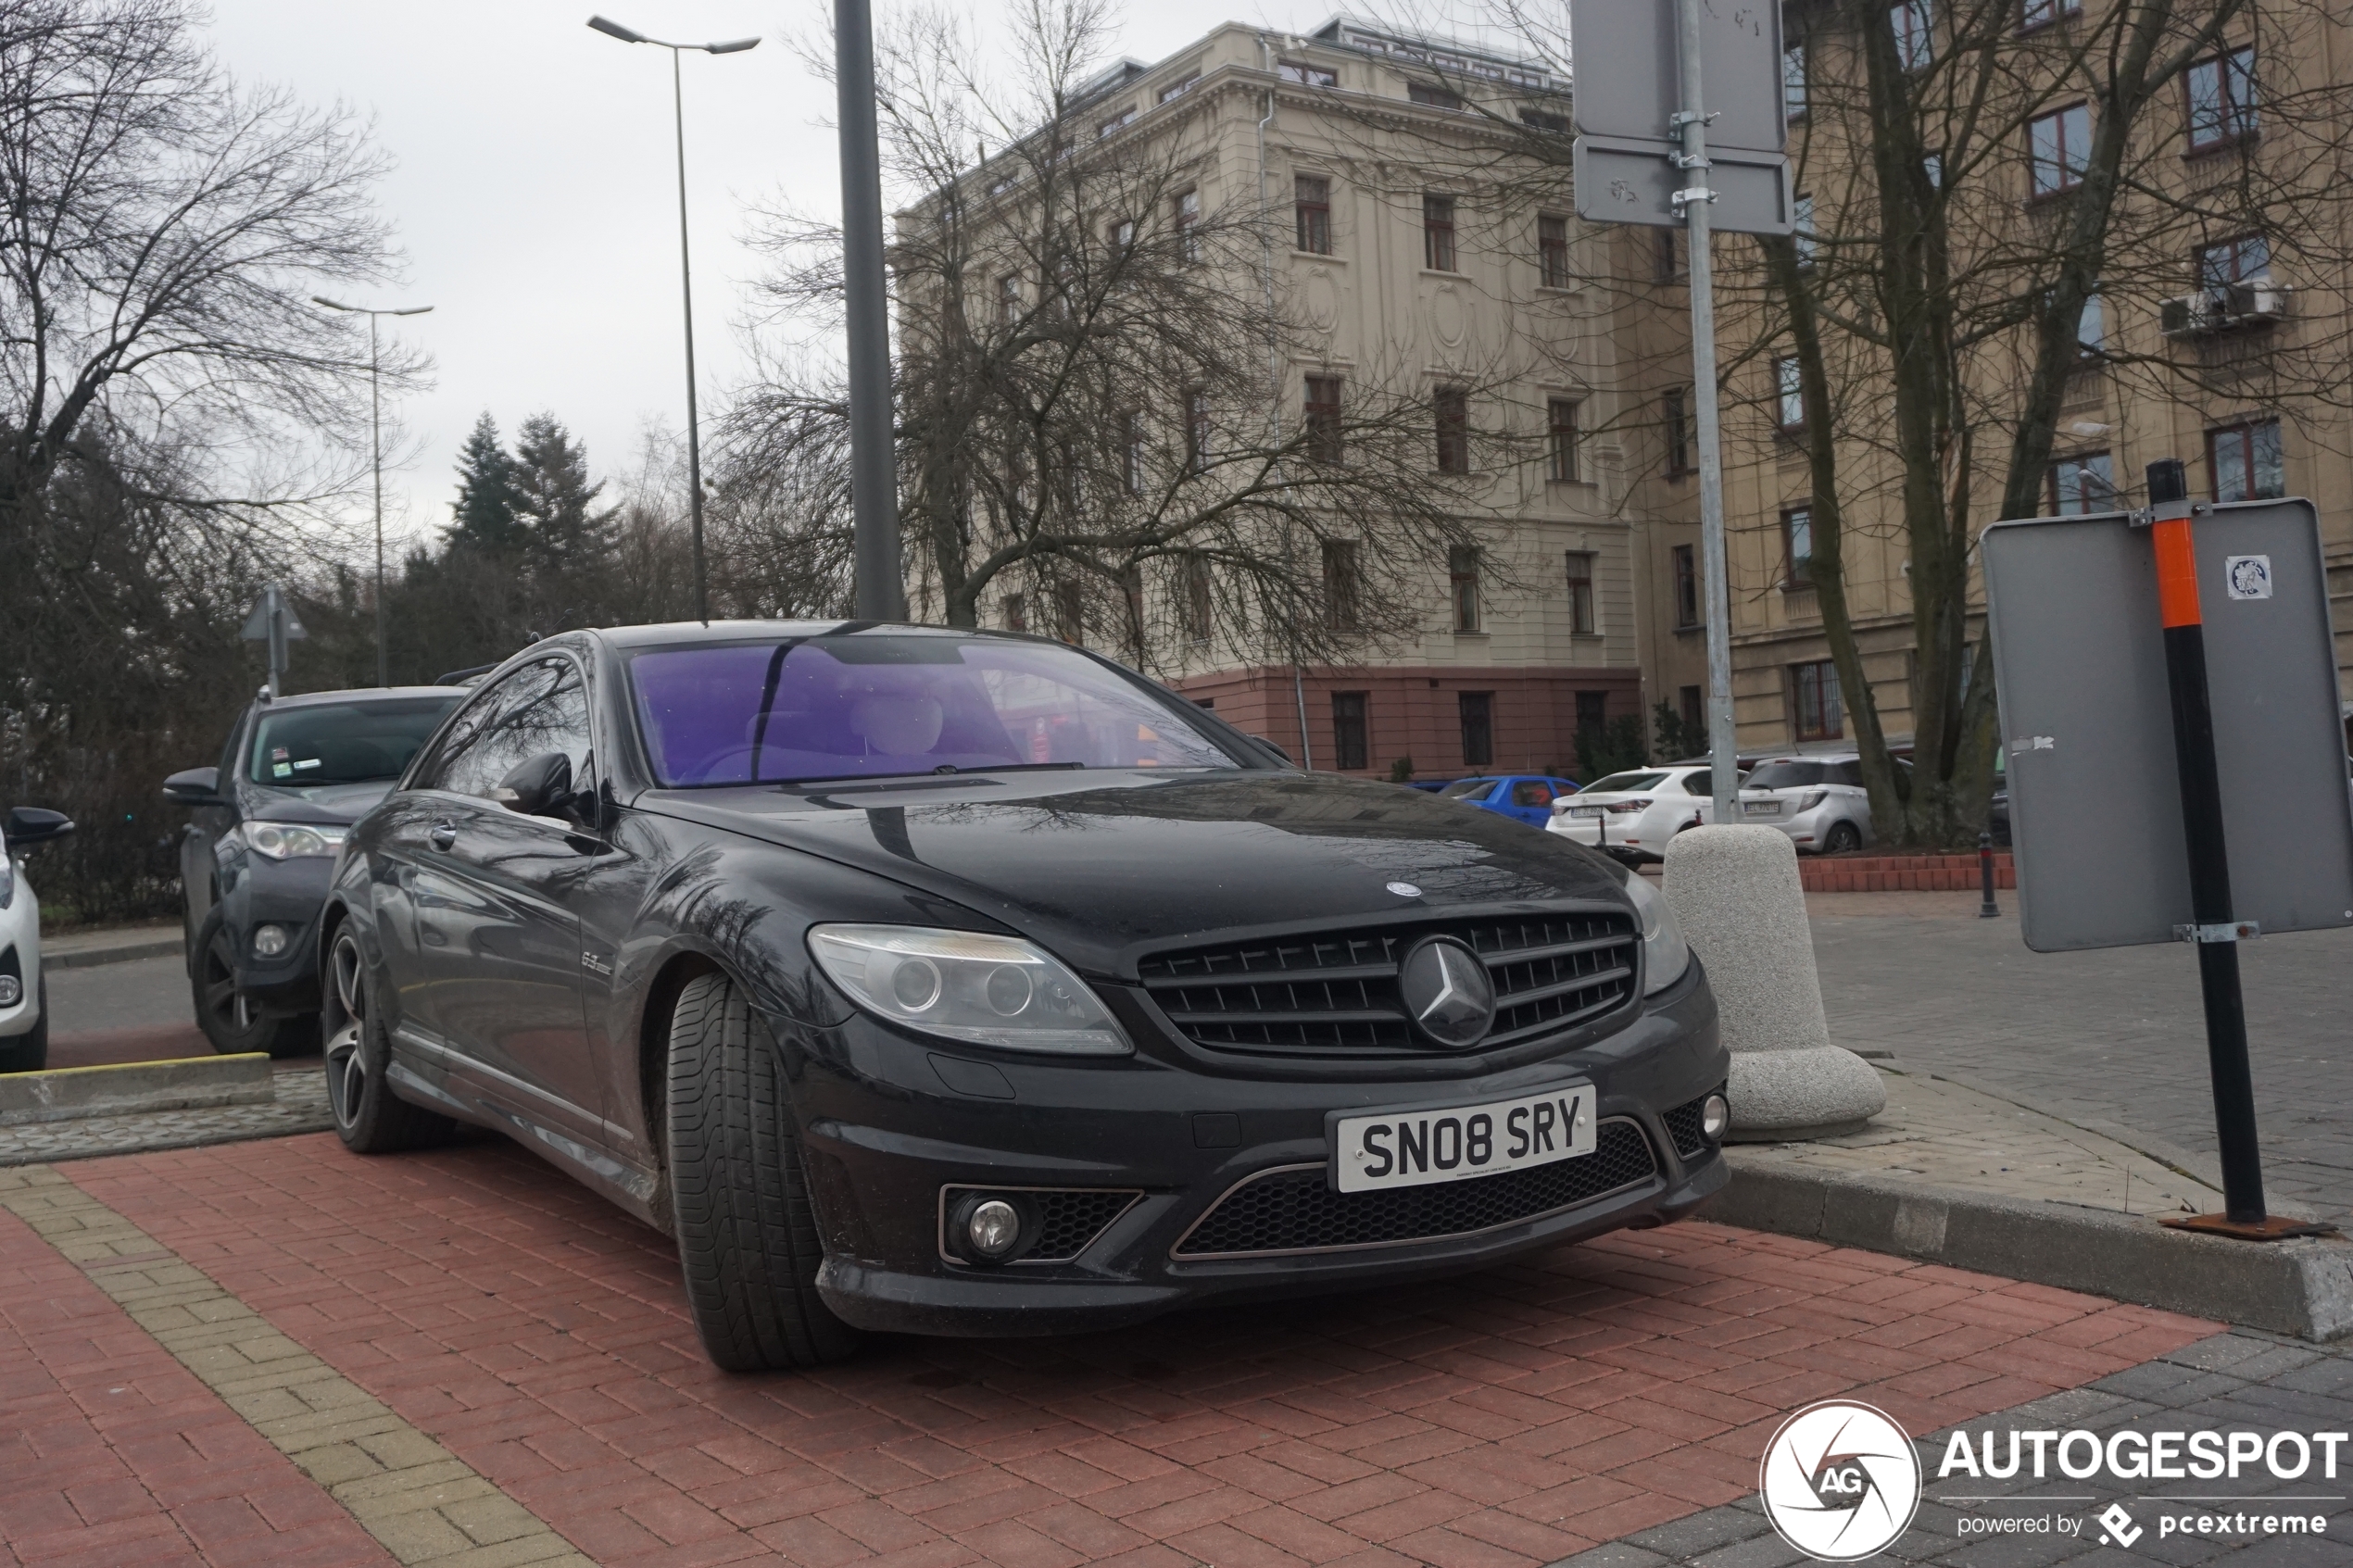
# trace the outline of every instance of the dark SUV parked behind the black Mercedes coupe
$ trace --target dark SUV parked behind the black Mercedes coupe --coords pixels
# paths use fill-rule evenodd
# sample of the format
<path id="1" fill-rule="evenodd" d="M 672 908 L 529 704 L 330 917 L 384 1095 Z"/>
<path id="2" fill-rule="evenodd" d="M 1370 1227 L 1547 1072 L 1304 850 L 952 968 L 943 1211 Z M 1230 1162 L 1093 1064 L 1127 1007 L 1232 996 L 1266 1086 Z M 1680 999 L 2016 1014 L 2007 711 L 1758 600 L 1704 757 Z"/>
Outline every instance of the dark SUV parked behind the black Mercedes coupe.
<path id="1" fill-rule="evenodd" d="M 261 698 L 238 715 L 219 766 L 162 780 L 165 799 L 195 806 L 179 879 L 195 1023 L 214 1051 L 318 1046 L 311 931 L 334 853 L 464 696 L 369 686 Z"/>

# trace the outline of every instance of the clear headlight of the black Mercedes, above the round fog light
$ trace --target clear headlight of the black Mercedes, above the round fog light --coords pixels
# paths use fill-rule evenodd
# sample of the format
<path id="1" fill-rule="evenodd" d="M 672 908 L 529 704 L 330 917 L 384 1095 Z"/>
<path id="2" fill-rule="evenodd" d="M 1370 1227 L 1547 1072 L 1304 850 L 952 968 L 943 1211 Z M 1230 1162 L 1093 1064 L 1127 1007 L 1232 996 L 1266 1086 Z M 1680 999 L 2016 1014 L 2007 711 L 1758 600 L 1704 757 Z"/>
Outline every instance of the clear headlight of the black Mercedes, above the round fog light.
<path id="1" fill-rule="evenodd" d="M 814 926 L 809 952 L 852 1001 L 908 1030 L 1000 1051 L 1134 1051 L 1085 980 L 1012 936 Z"/>

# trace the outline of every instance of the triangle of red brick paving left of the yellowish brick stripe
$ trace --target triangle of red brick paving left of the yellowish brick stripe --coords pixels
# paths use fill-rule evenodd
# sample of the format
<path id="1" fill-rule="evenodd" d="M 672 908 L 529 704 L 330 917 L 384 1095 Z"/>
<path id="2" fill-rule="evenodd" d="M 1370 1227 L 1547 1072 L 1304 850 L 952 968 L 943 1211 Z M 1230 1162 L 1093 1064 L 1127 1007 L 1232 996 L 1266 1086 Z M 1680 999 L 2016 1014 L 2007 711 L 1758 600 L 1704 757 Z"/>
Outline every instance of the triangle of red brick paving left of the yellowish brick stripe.
<path id="1" fill-rule="evenodd" d="M 0 1211 L 0 1563 L 391 1563 L 122 1307 Z"/>

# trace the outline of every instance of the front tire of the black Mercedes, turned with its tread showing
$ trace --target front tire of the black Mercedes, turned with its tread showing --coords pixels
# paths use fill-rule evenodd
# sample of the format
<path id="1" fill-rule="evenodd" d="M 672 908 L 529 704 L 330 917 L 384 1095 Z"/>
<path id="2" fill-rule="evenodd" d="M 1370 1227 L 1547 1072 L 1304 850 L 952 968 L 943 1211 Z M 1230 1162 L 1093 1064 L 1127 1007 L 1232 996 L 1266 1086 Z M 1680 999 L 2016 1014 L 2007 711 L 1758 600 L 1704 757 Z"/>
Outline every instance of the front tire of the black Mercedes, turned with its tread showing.
<path id="1" fill-rule="evenodd" d="M 720 1371 L 826 1366 L 859 1335 L 816 1295 L 824 1244 L 767 1025 L 727 976 L 671 1013 L 671 1194 L 687 1307 Z"/>

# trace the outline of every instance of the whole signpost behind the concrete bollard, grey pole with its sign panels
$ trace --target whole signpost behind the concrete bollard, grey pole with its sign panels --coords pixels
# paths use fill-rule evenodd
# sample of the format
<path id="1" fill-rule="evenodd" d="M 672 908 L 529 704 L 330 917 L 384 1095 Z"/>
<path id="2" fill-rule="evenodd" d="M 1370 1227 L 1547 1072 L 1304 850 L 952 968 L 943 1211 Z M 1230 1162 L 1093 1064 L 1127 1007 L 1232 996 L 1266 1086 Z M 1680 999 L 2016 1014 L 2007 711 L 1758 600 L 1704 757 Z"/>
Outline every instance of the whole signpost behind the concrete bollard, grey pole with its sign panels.
<path id="1" fill-rule="evenodd" d="M 1708 592 L 1708 748 L 1715 820 L 1739 820 L 1732 590 L 1715 409 L 1715 228 L 1786 235 L 1795 221 L 1777 0 L 1569 0 L 1577 214 L 1682 228 L 1699 404 L 1699 552 Z"/>

